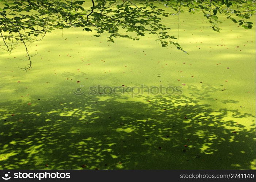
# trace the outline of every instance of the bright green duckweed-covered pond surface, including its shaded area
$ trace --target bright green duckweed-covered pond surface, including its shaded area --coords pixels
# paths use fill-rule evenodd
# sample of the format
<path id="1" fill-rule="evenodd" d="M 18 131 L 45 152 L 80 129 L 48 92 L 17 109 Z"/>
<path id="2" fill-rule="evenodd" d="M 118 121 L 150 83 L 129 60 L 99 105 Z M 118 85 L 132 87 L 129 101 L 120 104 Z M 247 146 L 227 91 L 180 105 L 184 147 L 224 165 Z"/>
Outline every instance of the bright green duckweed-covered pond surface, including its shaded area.
<path id="1" fill-rule="evenodd" d="M 22 46 L 0 51 L 0 169 L 255 169 L 255 27 L 219 18 L 164 19 L 189 55 L 74 28 L 33 43 L 27 72 Z"/>

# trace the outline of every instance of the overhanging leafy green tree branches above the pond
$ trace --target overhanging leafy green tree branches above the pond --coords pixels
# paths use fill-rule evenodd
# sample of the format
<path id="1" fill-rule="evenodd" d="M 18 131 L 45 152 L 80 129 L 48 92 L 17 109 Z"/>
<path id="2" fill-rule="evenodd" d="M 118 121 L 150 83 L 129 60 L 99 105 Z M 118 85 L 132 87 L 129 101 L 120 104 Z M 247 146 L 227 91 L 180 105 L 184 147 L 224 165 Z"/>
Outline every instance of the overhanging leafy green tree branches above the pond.
<path id="1" fill-rule="evenodd" d="M 171 13 L 158 8 L 162 3 L 174 14 L 180 15 L 188 10 L 200 12 L 209 20 L 210 27 L 219 32 L 218 14 L 225 15 L 245 29 L 252 28 L 247 21 L 255 13 L 255 0 L 0 0 L 0 47 L 11 52 L 18 44 L 26 49 L 28 67 L 31 57 L 28 45 L 41 40 L 47 32 L 54 29 L 77 27 L 83 31 L 95 31 L 95 36 L 108 33 L 108 41 L 116 37 L 139 40 L 145 33 L 155 34 L 163 47 L 172 44 L 182 50 L 175 36 L 168 34 L 168 27 L 161 24 L 163 17 Z M 172 13 L 172 14 L 173 14 Z M 135 32 L 135 36 L 122 34 Z"/>

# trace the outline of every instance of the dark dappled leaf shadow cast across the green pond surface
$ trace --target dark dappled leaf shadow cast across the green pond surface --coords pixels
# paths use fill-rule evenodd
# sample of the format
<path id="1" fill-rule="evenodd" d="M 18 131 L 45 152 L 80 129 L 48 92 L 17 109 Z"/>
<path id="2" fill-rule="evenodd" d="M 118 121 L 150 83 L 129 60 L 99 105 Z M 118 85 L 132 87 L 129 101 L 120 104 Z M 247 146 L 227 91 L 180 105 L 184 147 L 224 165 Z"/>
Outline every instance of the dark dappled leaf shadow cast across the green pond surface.
<path id="1" fill-rule="evenodd" d="M 254 126 L 255 116 L 201 102 L 219 89 L 134 99 L 65 89 L 45 100 L 31 94 L 31 105 L 1 103 L 0 169 L 255 168 L 255 130 L 236 122 Z"/>

